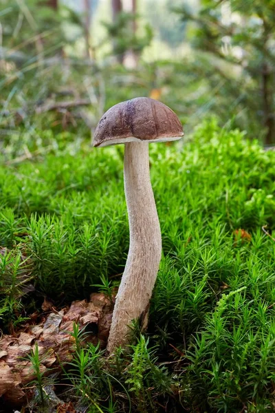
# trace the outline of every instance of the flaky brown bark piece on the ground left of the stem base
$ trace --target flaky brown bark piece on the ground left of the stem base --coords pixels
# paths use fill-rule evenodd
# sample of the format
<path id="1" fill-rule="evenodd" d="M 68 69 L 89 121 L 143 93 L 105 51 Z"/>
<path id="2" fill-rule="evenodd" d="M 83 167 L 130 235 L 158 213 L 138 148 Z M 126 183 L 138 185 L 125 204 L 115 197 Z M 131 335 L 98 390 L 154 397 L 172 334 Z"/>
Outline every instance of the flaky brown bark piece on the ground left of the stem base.
<path id="1" fill-rule="evenodd" d="M 26 326 L 25 330 L 15 337 L 3 335 L 0 339 L 0 396 L 14 405 L 23 405 L 28 389 L 24 389 L 35 374 L 32 363 L 28 359 L 35 343 L 39 347 L 41 371 L 52 374 L 61 370 L 72 360 L 75 351 L 72 331 L 74 322 L 80 331 L 88 324 L 96 324 L 98 333 L 89 336 L 89 340 L 105 346 L 109 328 L 113 303 L 102 293 L 91 294 L 90 300 L 74 301 L 70 308 L 52 311 L 41 324 Z M 85 341 L 88 337 L 85 335 Z"/>

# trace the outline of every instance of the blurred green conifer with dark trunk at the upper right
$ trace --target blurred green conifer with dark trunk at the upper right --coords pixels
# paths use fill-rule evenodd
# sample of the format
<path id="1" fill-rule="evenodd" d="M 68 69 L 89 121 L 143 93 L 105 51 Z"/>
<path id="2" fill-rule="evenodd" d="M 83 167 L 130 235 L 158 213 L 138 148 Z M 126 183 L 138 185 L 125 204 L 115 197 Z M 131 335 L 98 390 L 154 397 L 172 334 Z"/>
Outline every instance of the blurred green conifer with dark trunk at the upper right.
<path id="1" fill-rule="evenodd" d="M 205 74 L 214 72 L 223 85 L 230 117 L 244 125 L 252 111 L 248 128 L 269 145 L 275 142 L 274 6 L 274 0 L 201 0 L 199 10 L 188 2 L 175 10 L 192 22 L 190 43 L 203 55 Z"/>

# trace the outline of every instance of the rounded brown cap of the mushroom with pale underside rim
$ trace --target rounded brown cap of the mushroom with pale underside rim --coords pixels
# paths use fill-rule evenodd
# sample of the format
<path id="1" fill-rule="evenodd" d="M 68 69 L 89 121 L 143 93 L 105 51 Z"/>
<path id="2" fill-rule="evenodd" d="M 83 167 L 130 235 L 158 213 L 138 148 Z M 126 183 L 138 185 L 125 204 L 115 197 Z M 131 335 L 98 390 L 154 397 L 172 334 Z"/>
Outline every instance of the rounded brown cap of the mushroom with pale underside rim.
<path id="1" fill-rule="evenodd" d="M 168 106 L 151 98 L 134 98 L 111 107 L 100 119 L 94 147 L 147 140 L 163 142 L 184 136 L 179 118 Z"/>

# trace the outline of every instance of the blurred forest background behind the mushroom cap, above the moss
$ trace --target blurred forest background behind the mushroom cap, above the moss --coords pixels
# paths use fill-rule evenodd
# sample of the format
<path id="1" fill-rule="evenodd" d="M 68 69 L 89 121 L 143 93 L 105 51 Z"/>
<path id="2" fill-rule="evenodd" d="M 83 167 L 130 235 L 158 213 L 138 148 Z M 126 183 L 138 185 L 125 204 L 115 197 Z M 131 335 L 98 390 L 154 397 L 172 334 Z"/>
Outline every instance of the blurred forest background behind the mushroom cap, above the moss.
<path id="1" fill-rule="evenodd" d="M 1 141 L 88 138 L 111 105 L 151 96 L 187 136 L 214 114 L 272 145 L 274 21 L 274 0 L 2 0 Z"/>

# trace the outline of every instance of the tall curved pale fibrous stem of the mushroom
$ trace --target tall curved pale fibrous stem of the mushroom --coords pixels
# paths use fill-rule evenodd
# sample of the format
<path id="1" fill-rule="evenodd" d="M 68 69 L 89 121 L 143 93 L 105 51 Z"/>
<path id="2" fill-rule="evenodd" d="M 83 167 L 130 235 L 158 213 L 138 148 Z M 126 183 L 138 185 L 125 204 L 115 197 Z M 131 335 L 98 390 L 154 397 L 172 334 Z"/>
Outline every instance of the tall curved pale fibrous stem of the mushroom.
<path id="1" fill-rule="evenodd" d="M 148 321 L 149 301 L 162 255 L 162 236 L 150 180 L 148 142 L 127 142 L 124 191 L 129 216 L 130 246 L 115 300 L 107 351 L 129 342 L 129 325 Z"/>

